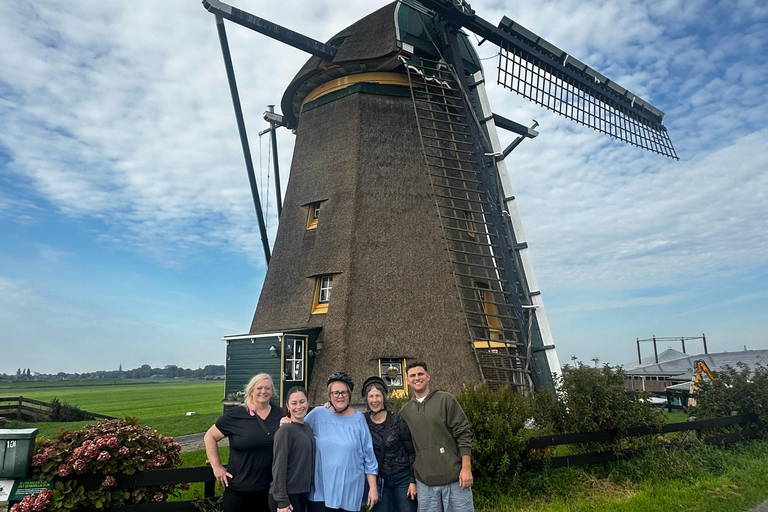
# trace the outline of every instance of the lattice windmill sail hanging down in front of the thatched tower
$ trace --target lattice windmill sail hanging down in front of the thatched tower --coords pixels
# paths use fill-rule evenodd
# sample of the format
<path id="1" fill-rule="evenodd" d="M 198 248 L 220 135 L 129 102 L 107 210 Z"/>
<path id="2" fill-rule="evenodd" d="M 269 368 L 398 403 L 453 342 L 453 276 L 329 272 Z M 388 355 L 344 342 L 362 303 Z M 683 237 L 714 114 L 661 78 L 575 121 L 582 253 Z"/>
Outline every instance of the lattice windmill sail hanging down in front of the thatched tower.
<path id="1" fill-rule="evenodd" d="M 443 62 L 407 63 L 422 151 L 475 359 L 483 382 L 530 392 L 523 291 L 504 229 L 498 184 L 475 123 Z"/>

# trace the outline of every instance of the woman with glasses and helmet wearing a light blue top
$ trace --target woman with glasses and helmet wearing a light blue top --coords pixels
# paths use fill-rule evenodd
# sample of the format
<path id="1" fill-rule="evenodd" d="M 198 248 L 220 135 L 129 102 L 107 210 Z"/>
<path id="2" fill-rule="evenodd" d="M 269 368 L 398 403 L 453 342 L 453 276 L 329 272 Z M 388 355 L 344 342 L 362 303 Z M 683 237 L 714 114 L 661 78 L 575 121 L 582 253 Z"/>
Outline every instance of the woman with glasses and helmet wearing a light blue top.
<path id="1" fill-rule="evenodd" d="M 316 440 L 309 511 L 357 512 L 366 480 L 369 491 L 364 501 L 370 509 L 379 500 L 378 465 L 365 416 L 349 406 L 355 384 L 346 373 L 336 372 L 327 385 L 330 408 L 315 407 L 306 419 Z"/>

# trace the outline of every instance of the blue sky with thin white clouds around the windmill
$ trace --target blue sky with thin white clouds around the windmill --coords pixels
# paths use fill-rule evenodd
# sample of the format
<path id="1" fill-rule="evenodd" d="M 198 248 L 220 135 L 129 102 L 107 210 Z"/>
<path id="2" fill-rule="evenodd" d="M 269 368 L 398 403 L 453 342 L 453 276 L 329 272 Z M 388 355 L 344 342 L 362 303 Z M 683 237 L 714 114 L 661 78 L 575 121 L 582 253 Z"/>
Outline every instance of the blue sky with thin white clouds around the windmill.
<path id="1" fill-rule="evenodd" d="M 325 41 L 386 3 L 233 5 Z M 628 363 L 653 335 L 768 348 L 768 4 L 471 5 L 664 111 L 680 157 L 503 90 L 496 50 L 478 47 L 494 112 L 539 122 L 506 163 L 561 363 Z M 308 55 L 227 31 L 274 241 L 258 132 Z M 197 0 L 0 2 L 0 47 L 0 373 L 223 364 L 266 267 L 213 15 Z M 285 188 L 294 136 L 278 133 Z"/>

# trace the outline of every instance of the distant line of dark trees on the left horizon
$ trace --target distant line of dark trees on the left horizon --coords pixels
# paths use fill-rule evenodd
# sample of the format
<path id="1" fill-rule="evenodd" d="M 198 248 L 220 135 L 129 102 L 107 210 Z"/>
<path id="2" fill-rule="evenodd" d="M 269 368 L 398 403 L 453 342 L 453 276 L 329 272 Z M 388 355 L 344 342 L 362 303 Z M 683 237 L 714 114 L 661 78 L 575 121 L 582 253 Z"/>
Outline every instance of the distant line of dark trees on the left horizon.
<path id="1" fill-rule="evenodd" d="M 152 368 L 148 364 L 143 364 L 133 370 L 123 370 L 120 365 L 119 370 L 100 370 L 97 372 L 85 373 L 37 373 L 30 371 L 29 368 L 19 368 L 15 375 L 0 374 L 1 380 L 6 381 L 47 381 L 47 380 L 94 380 L 94 379 L 215 379 L 224 377 L 223 364 L 209 364 L 204 368 L 192 370 L 190 368 L 181 368 L 175 364 L 166 365 L 163 368 Z"/>

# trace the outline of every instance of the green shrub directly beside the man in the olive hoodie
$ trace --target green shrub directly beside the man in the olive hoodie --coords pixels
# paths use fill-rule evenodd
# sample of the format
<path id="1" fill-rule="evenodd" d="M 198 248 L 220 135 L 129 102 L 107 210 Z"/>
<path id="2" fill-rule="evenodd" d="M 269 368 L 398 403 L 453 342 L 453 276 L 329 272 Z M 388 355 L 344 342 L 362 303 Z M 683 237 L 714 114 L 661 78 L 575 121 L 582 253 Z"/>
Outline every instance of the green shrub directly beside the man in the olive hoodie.
<path id="1" fill-rule="evenodd" d="M 533 417 L 534 399 L 487 386 L 466 388 L 456 398 L 472 425 L 472 469 L 481 478 L 505 475 L 531 437 L 525 425 Z"/>

